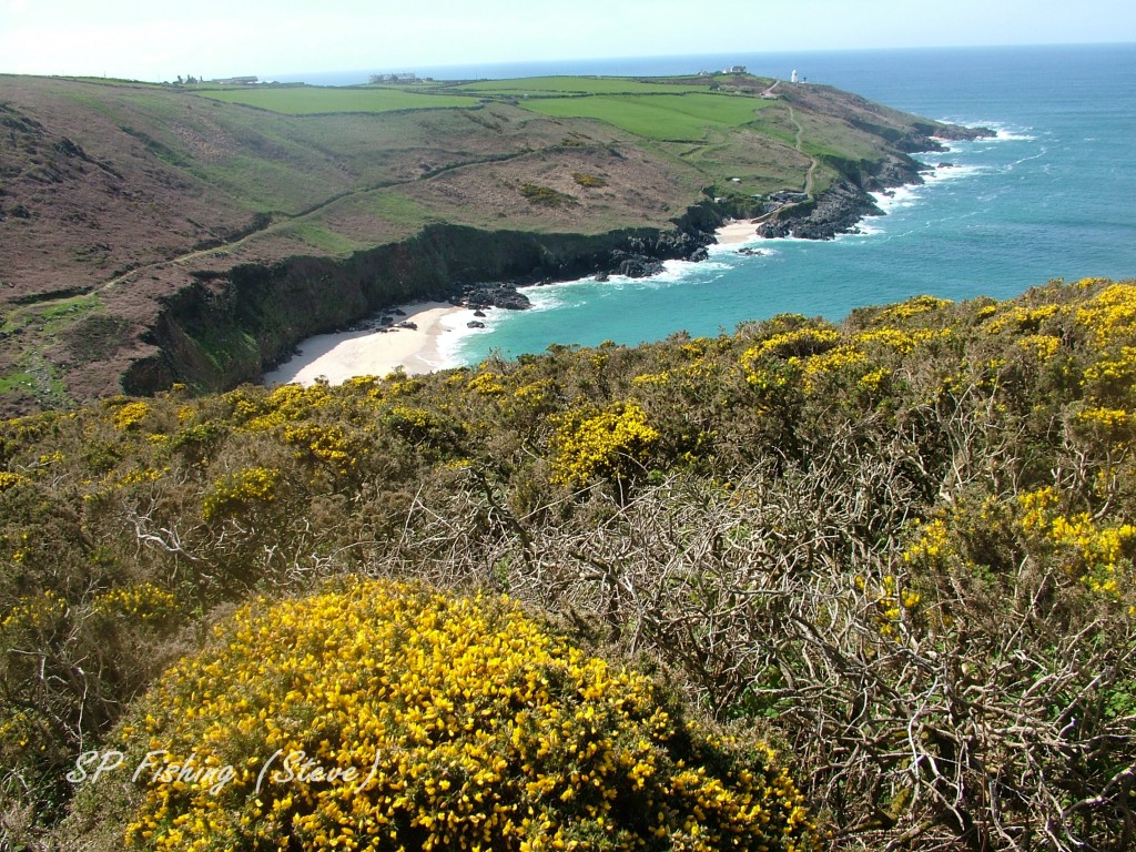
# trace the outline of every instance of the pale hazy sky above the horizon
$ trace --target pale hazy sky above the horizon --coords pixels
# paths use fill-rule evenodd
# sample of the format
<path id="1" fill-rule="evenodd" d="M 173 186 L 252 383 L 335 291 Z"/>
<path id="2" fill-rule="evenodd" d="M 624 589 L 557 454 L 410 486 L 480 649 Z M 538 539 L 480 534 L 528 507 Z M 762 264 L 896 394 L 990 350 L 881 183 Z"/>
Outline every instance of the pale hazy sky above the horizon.
<path id="1" fill-rule="evenodd" d="M 1133 0 L 0 0 L 0 72 L 173 80 L 543 59 L 1136 42 Z"/>

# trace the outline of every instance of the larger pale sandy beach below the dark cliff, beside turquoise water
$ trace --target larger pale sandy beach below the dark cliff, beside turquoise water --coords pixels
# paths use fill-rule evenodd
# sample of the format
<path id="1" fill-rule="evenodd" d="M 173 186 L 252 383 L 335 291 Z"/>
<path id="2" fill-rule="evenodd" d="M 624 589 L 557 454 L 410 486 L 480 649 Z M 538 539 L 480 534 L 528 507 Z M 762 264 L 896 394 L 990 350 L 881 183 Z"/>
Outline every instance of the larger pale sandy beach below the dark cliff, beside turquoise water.
<path id="1" fill-rule="evenodd" d="M 390 331 L 342 332 L 309 337 L 300 344 L 300 353 L 272 373 L 265 374 L 269 387 L 290 383 L 312 384 L 325 378 L 341 384 L 352 376 L 385 376 L 401 367 L 408 375 L 432 373 L 457 366 L 449 362 L 440 344 L 443 335 L 460 335 L 473 317 L 467 308 L 446 302 L 404 304 L 411 328 Z"/>

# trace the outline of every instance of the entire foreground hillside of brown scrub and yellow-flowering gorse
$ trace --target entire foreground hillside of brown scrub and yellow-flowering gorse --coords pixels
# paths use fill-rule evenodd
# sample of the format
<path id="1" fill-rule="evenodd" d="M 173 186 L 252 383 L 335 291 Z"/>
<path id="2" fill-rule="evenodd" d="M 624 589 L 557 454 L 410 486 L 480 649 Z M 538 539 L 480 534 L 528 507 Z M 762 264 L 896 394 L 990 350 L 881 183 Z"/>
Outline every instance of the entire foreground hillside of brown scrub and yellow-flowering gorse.
<path id="1" fill-rule="evenodd" d="M 366 819 L 396 813 L 399 842 L 446 849 L 753 849 L 722 820 L 768 808 L 785 847 L 1129 849 L 1134 329 L 1136 283 L 1053 282 L 5 421 L 5 842 L 251 846 L 262 828 L 386 849 Z M 506 634 L 576 662 L 481 644 L 512 607 Z M 520 666 L 515 703 L 474 690 L 498 683 L 482 659 Z M 340 679 L 316 679 L 328 666 Z M 500 765 L 458 733 L 479 708 L 517 749 Z M 100 746 L 254 765 L 292 743 L 342 767 L 377 742 L 382 782 L 350 807 L 323 786 L 253 801 L 247 776 L 220 796 L 120 777 L 73 804 L 65 780 Z M 743 788 L 761 767 L 771 799 Z M 483 771 L 503 810 L 481 809 Z M 519 802 L 537 816 L 483 840 Z"/>

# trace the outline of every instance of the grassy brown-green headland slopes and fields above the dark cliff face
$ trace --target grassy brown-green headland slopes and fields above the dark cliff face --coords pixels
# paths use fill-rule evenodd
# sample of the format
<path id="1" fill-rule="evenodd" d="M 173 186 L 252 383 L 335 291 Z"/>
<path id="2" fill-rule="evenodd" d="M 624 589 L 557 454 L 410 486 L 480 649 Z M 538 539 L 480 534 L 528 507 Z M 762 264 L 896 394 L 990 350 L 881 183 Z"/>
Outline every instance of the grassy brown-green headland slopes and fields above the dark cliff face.
<path id="1" fill-rule="evenodd" d="M 724 199 L 720 214 L 738 212 L 802 189 L 815 165 L 815 192 L 872 179 L 857 170 L 863 162 L 910 175 L 911 140 L 939 127 L 820 87 L 784 85 L 780 100 L 763 100 L 772 81 L 744 75 L 353 89 L 0 83 L 8 412 L 115 392 L 133 364 L 170 354 L 159 315 L 184 301 L 175 296 L 207 281 L 224 302 L 243 267 L 326 260 L 303 284 L 310 293 L 336 265 L 442 223 L 671 229 L 711 198 Z M 566 203 L 540 203 L 526 186 Z M 327 328 L 294 329 L 317 331 Z M 278 354 L 266 346 L 261 358 Z"/>

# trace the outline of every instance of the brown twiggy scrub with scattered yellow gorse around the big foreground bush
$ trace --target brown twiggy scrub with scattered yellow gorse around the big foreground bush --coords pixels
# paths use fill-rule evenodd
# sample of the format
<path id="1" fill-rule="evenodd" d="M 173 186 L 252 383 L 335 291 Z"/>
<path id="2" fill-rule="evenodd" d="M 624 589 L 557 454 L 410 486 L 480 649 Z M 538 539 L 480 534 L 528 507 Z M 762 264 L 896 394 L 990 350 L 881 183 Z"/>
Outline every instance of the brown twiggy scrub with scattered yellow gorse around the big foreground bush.
<path id="1" fill-rule="evenodd" d="M 1133 282 L 1051 283 L 1008 301 L 866 308 L 835 325 L 783 315 L 713 339 L 0 420 L 0 638 L 12 650 L 0 654 L 0 826 L 24 812 L 58 820 L 75 754 L 107 744 L 203 613 L 367 566 L 442 587 L 493 583 L 661 659 L 700 705 L 791 744 L 841 847 L 1027 852 L 1037 826 L 1056 845 L 1125 847 L 1136 825 L 1134 329 Z M 590 484 L 566 499 L 566 485 Z M 301 643 L 309 652 L 333 659 Z M 316 663 L 296 677 L 316 683 Z M 206 692 L 212 708 L 228 676 L 210 669 L 203 683 L 197 704 L 179 704 L 186 715 Z M 308 695 L 308 680 L 295 684 Z M 256 722 L 234 710 L 241 729 L 215 715 L 232 745 L 218 760 L 267 759 L 257 728 L 269 718 L 302 738 L 315 699 L 273 701 L 300 709 L 262 703 Z M 323 730 L 341 742 L 331 722 Z M 321 743 L 301 744 L 315 754 Z M 695 774 L 719 766 L 682 759 Z M 526 762 L 508 770 L 524 785 L 537 780 Z M 452 792 L 459 779 L 419 774 L 401 794 L 433 807 L 441 782 Z M 573 790 L 569 802 L 599 808 Z M 513 816 L 540 822 L 544 795 Z M 292 804 L 315 812 L 302 796 Z M 187 813 L 141 830 L 187 830 L 202 811 Z M 272 815 L 231 802 L 201 818 L 242 817 Z M 532 836 L 520 842 L 538 845 Z M 30 832 L 9 845 L 44 844 Z"/>

